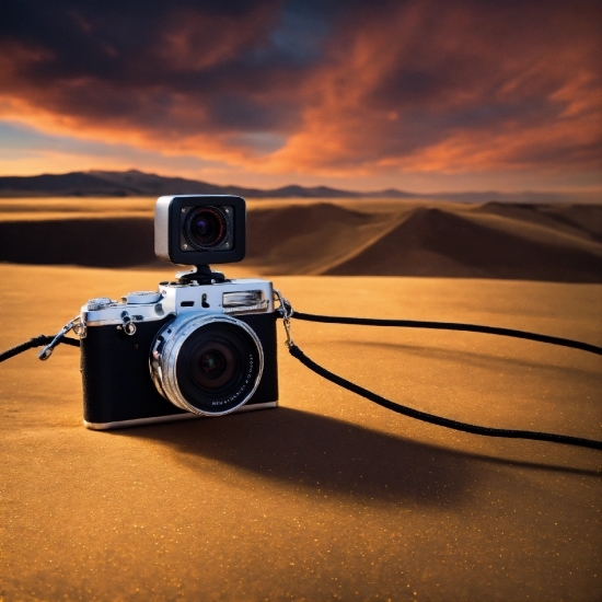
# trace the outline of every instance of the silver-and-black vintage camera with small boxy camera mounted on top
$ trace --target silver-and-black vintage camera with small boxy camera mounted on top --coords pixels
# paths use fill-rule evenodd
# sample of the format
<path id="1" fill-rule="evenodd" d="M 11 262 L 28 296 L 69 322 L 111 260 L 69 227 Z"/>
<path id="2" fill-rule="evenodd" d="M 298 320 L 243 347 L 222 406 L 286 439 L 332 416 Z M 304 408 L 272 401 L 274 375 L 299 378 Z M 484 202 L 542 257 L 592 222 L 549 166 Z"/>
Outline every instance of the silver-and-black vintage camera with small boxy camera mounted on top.
<path id="1" fill-rule="evenodd" d="M 111 429 L 277 406 L 271 282 L 227 279 L 211 264 L 245 255 L 245 201 L 161 197 L 155 254 L 195 266 L 158 291 L 81 309 L 84 424 Z M 81 336 L 81 334 L 80 334 Z"/>

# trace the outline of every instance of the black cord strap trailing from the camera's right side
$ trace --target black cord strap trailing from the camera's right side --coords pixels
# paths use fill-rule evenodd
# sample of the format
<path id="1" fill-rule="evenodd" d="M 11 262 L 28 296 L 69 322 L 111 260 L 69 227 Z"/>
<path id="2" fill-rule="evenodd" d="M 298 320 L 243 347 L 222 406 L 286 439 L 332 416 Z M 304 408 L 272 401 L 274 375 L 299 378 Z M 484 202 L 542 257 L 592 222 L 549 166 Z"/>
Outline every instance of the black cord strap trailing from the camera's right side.
<path id="1" fill-rule="evenodd" d="M 280 294 L 279 291 L 275 291 L 278 301 L 280 302 L 279 313 L 283 319 L 285 329 L 287 332 L 286 345 L 292 357 L 297 358 L 303 366 L 321 375 L 322 378 L 338 384 L 343 389 L 351 391 L 357 395 L 361 395 L 367 400 L 379 404 L 387 409 L 408 416 L 409 418 L 416 418 L 424 422 L 430 422 L 441 427 L 451 428 L 454 430 L 461 430 L 464 432 L 471 432 L 473 435 L 484 435 L 487 437 L 506 437 L 511 439 L 533 439 L 536 441 L 549 441 L 552 443 L 565 443 L 567 445 L 579 445 L 582 448 L 591 448 L 594 450 L 602 450 L 602 441 L 595 441 L 592 439 L 583 439 L 581 437 L 570 437 L 567 435 L 555 435 L 551 432 L 537 432 L 530 430 L 516 430 L 516 429 L 502 429 L 481 427 L 478 425 L 471 425 L 468 422 L 462 422 L 460 420 L 452 420 L 451 418 L 443 418 L 442 416 L 436 416 L 427 412 L 420 412 L 412 407 L 407 407 L 402 404 L 397 404 L 359 386 L 358 384 L 326 370 L 312 359 L 310 359 L 292 340 L 290 336 L 290 319 L 304 320 L 309 322 L 322 322 L 329 324 L 358 324 L 362 326 L 397 326 L 397 327 L 412 327 L 412 328 L 437 328 L 448 331 L 467 331 L 473 333 L 486 333 L 494 335 L 511 336 L 516 338 L 524 338 L 529 340 L 537 340 L 541 343 L 548 343 L 552 345 L 560 345 L 563 347 L 571 347 L 575 349 L 581 349 L 595 355 L 602 355 L 602 347 L 590 345 L 588 343 L 581 343 L 579 340 L 571 340 L 567 338 L 540 335 L 535 333 L 528 333 L 523 331 L 514 331 L 509 328 L 497 328 L 490 326 L 478 326 L 474 324 L 455 324 L 451 322 L 420 322 L 414 320 L 377 320 L 367 317 L 343 317 L 335 315 L 315 315 L 309 313 L 301 313 L 293 311 L 291 304 Z"/>

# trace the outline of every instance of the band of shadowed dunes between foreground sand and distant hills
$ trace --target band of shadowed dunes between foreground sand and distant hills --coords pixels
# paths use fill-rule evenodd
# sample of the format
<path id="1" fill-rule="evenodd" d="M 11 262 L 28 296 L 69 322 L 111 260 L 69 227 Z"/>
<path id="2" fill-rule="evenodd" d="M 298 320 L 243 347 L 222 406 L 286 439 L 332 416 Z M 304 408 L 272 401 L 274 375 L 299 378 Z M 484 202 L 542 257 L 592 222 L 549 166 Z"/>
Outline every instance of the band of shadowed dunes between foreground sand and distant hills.
<path id="1" fill-rule="evenodd" d="M 0 199 L 0 262 L 160 268 L 154 198 Z M 602 205 L 248 201 L 261 275 L 602 281 Z"/>

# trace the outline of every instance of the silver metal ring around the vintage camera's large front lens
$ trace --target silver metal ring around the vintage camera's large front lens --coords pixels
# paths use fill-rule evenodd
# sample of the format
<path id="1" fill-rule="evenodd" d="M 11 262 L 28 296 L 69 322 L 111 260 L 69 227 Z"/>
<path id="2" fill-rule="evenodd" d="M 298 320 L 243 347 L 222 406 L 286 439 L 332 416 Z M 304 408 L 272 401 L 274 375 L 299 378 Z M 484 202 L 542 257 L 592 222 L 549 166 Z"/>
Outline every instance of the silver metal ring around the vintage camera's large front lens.
<path id="1" fill-rule="evenodd" d="M 186 341 L 199 328 L 205 328 L 209 325 L 219 326 L 220 324 L 229 328 L 240 328 L 244 332 L 244 335 L 248 335 L 248 338 L 254 344 L 253 351 L 255 351 L 257 357 L 257 366 L 255 367 L 255 362 L 252 362 L 251 369 L 254 373 L 254 379 L 251 379 L 253 381 L 251 382 L 247 378 L 245 386 L 241 387 L 244 391 L 242 391 L 240 398 L 236 398 L 236 393 L 234 393 L 232 398 L 229 400 L 230 403 L 227 409 L 220 409 L 218 406 L 216 410 L 204 410 L 186 400 L 177 378 L 178 358 Z M 264 350 L 255 332 L 240 320 L 224 314 L 199 315 L 185 313 L 163 326 L 157 334 L 151 346 L 150 371 L 159 393 L 175 406 L 199 416 L 223 416 L 244 405 L 255 393 L 264 371 Z"/>

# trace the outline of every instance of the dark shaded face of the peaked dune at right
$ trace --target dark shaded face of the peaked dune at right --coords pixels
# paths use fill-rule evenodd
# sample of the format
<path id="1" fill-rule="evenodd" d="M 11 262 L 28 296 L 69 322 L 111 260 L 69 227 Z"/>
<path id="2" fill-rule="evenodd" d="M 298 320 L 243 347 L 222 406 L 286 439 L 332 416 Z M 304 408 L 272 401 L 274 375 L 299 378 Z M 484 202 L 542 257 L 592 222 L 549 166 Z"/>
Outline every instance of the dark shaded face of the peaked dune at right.
<path id="1" fill-rule="evenodd" d="M 507 224 L 506 224 L 507 225 Z M 438 208 L 418 208 L 372 245 L 325 275 L 530 278 L 599 282 L 602 246 L 569 245 L 554 231 L 521 235 Z M 531 229 L 532 230 L 532 229 Z M 545 233 L 548 234 L 547 240 Z"/>

